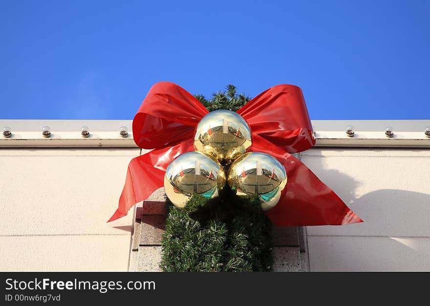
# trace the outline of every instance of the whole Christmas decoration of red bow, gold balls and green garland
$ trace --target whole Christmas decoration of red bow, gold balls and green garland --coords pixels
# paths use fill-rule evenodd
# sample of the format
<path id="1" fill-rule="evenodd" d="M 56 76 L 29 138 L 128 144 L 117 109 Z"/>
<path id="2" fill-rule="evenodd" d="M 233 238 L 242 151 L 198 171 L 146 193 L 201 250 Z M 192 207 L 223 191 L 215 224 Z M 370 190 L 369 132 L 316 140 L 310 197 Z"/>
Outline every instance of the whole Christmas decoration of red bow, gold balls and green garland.
<path id="1" fill-rule="evenodd" d="M 162 82 L 134 117 L 135 143 L 153 150 L 130 162 L 109 222 L 165 186 L 163 271 L 270 271 L 272 224 L 362 222 L 290 155 L 315 144 L 300 88 L 278 85 L 249 100 L 233 85 L 207 101 Z"/>

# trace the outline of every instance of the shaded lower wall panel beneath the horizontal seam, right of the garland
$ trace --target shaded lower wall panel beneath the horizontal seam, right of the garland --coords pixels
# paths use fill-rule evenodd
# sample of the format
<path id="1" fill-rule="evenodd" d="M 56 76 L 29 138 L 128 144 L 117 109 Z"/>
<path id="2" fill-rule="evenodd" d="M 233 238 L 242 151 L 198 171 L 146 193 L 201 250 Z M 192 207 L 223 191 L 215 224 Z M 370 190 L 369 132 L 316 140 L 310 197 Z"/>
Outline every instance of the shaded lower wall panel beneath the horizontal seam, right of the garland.
<path id="1" fill-rule="evenodd" d="M 429 238 L 310 236 L 311 271 L 430 271 Z"/>

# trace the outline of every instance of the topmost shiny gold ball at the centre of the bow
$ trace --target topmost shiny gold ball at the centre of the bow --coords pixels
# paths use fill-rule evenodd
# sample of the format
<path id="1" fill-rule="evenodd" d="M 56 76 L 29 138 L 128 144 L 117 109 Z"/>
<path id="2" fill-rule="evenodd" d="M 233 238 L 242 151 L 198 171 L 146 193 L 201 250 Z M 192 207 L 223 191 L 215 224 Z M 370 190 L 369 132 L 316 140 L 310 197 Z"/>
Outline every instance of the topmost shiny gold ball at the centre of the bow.
<path id="1" fill-rule="evenodd" d="M 194 145 L 197 151 L 230 164 L 251 146 L 251 129 L 236 112 L 215 110 L 198 123 Z"/>

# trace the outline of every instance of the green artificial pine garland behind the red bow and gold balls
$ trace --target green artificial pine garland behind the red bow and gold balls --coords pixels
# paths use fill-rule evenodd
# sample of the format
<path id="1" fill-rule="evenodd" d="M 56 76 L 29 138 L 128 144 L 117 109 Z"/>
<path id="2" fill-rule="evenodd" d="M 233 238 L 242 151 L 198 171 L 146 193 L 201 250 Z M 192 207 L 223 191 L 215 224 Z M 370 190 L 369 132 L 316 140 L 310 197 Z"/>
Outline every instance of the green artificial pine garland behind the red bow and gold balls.
<path id="1" fill-rule="evenodd" d="M 210 101 L 195 97 L 210 111 L 237 110 L 250 100 L 233 85 Z M 163 271 L 270 271 L 273 265 L 272 223 L 258 196 L 237 196 L 228 186 L 211 200 L 194 194 L 183 209 L 167 199 L 161 245 Z"/>

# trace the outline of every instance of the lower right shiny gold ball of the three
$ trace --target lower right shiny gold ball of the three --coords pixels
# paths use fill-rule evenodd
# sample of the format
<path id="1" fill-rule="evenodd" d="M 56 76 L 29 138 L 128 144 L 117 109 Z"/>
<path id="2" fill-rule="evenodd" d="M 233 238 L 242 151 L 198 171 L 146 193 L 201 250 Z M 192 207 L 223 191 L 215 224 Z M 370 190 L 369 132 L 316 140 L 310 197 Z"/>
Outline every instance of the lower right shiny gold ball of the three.
<path id="1" fill-rule="evenodd" d="M 269 210 L 278 204 L 281 191 L 287 184 L 287 173 L 273 156 L 249 152 L 232 163 L 227 184 L 237 195 L 258 194 L 261 208 Z"/>

